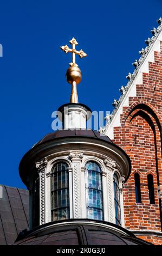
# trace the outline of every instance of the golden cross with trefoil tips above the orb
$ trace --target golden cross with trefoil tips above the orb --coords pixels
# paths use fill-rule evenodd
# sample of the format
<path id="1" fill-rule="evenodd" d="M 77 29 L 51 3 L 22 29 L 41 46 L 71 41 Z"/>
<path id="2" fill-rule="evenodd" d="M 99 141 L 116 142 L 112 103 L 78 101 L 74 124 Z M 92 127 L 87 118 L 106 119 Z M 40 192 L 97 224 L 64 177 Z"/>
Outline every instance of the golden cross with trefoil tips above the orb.
<path id="1" fill-rule="evenodd" d="M 61 46 L 61 50 L 65 53 L 72 52 L 72 62 L 69 63 L 70 66 L 78 66 L 75 62 L 75 54 L 78 54 L 80 58 L 86 57 L 87 54 L 83 52 L 83 50 L 76 51 L 75 45 L 78 45 L 78 42 L 75 38 L 72 38 L 72 40 L 69 41 L 69 43 L 72 45 L 72 49 L 70 49 L 67 45 Z"/>

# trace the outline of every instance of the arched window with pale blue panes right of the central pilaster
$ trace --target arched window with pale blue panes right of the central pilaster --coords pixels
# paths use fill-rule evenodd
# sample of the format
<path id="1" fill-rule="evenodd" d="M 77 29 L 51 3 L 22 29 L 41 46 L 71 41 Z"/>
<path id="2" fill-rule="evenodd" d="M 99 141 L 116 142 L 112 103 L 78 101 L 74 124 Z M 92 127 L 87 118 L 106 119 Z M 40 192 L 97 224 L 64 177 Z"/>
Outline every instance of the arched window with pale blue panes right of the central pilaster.
<path id="1" fill-rule="evenodd" d="M 102 176 L 99 164 L 86 164 L 87 218 L 103 220 Z"/>

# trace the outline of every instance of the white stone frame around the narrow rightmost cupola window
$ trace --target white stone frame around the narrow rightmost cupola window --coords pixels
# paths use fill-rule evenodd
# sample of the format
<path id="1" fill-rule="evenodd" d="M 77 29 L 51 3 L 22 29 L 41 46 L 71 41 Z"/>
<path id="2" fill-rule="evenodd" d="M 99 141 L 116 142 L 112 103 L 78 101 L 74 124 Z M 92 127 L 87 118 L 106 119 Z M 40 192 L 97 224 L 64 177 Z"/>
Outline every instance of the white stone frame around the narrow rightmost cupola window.
<path id="1" fill-rule="evenodd" d="M 114 182 L 114 174 L 116 174 L 116 176 L 118 177 L 118 181 L 119 181 L 119 190 L 120 190 L 120 214 L 121 214 L 121 227 L 125 227 L 125 221 L 124 221 L 124 202 L 123 202 L 123 185 L 122 185 L 122 181 L 121 181 L 121 173 L 119 172 L 118 169 L 114 169 L 113 170 L 113 182 Z M 113 222 L 114 224 L 115 222 L 115 204 L 114 204 L 114 184 L 113 184 Z"/>

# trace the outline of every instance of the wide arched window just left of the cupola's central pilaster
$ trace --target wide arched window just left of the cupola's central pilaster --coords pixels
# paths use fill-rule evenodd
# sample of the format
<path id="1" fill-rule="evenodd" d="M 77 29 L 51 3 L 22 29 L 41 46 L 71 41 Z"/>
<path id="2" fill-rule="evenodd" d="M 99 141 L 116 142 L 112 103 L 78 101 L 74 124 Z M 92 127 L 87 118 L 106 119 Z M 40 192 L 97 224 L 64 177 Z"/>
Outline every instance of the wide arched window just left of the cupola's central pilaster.
<path id="1" fill-rule="evenodd" d="M 68 165 L 56 163 L 51 170 L 51 221 L 69 218 Z"/>

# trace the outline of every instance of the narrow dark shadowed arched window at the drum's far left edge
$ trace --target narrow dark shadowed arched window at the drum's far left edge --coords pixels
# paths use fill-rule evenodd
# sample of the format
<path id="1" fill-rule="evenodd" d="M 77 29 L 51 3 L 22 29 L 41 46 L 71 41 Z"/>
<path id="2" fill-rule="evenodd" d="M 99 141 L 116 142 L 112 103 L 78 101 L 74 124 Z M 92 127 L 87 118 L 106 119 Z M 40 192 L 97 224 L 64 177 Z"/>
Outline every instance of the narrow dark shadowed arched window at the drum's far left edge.
<path id="1" fill-rule="evenodd" d="M 40 175 L 36 173 L 32 191 L 32 220 L 33 228 L 40 225 Z"/>

